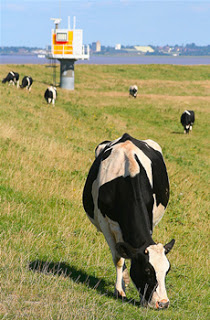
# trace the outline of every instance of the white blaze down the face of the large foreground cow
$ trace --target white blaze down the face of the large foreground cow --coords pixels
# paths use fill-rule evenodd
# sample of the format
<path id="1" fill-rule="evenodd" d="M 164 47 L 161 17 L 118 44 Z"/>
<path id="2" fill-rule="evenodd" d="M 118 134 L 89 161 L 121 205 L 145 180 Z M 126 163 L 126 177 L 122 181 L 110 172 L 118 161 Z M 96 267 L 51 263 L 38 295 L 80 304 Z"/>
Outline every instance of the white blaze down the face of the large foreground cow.
<path id="1" fill-rule="evenodd" d="M 160 301 L 169 301 L 165 287 L 165 276 L 169 269 L 169 262 L 165 255 L 165 249 L 161 243 L 151 245 L 147 248 L 149 252 L 149 262 L 153 266 L 158 286 L 152 295 L 149 306 L 154 308 L 156 303 Z"/>

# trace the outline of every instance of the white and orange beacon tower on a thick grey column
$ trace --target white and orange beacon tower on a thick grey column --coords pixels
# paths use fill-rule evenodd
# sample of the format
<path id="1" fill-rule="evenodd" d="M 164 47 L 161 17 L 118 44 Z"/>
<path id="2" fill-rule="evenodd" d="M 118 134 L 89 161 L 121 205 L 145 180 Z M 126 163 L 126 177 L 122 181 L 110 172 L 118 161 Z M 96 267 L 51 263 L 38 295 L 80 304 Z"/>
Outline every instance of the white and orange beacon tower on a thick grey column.
<path id="1" fill-rule="evenodd" d="M 60 61 L 60 86 L 61 88 L 74 90 L 74 62 L 76 60 L 89 59 L 89 46 L 85 48 L 83 42 L 83 30 L 76 29 L 76 18 L 73 19 L 73 29 L 70 28 L 68 17 L 68 29 L 59 29 L 62 19 L 51 18 L 55 28 L 51 35 L 51 52 L 47 58 Z"/>

